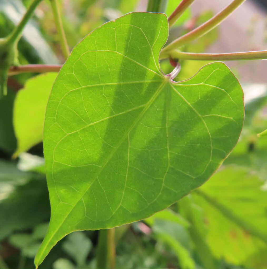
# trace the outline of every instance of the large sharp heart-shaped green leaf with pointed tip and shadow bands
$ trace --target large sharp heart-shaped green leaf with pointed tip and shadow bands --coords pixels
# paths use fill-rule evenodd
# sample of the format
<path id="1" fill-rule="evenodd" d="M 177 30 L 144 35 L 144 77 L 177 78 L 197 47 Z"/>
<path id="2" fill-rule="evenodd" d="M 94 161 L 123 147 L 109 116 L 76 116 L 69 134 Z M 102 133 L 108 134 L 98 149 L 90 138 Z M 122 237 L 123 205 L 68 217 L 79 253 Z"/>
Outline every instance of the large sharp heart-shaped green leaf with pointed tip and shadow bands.
<path id="1" fill-rule="evenodd" d="M 203 184 L 237 143 L 243 92 L 223 63 L 173 82 L 164 14 L 130 13 L 72 51 L 54 83 L 44 148 L 51 220 L 37 253 L 75 230 L 141 220 Z"/>

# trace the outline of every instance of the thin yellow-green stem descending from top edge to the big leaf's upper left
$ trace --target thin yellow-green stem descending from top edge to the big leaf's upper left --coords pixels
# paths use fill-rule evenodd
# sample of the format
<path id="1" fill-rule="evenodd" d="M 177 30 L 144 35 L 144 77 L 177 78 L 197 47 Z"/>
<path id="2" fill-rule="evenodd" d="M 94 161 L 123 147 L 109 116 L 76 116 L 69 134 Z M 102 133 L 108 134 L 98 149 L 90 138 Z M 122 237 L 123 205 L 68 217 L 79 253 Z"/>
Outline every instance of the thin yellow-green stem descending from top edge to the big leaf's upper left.
<path id="1" fill-rule="evenodd" d="M 57 32 L 59 34 L 60 46 L 61 46 L 64 57 L 67 59 L 69 57 L 70 51 L 69 51 L 67 38 L 64 32 L 61 17 L 60 17 L 59 4 L 57 0 L 50 0 L 50 2 L 51 2 L 53 14 L 54 14 Z"/>

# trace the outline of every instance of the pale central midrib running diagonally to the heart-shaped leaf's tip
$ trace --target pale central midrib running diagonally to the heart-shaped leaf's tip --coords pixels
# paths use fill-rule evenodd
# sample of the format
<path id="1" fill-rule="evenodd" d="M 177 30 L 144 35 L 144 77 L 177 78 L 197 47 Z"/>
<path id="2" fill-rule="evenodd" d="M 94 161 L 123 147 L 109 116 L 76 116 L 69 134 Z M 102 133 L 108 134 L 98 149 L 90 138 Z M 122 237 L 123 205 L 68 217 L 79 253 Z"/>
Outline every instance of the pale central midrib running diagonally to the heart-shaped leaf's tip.
<path id="1" fill-rule="evenodd" d="M 114 148 L 114 150 L 111 152 L 111 154 L 109 155 L 109 157 L 107 158 L 105 164 L 102 166 L 102 168 L 100 169 L 100 171 L 98 172 L 97 176 L 102 172 L 103 168 L 108 164 L 109 160 L 111 159 L 111 157 L 115 154 L 115 152 L 117 151 L 117 149 L 119 148 L 119 146 L 122 144 L 122 142 L 124 141 L 124 139 L 127 137 L 127 135 L 129 134 L 129 132 L 131 132 L 131 130 L 134 128 L 134 126 L 136 125 L 136 123 L 139 121 L 139 119 L 145 114 L 145 112 L 148 110 L 148 108 L 150 107 L 150 105 L 153 103 L 153 101 L 158 97 L 159 93 L 161 92 L 162 88 L 164 87 L 164 85 L 167 83 L 167 81 L 163 81 L 162 84 L 158 87 L 157 91 L 155 92 L 155 94 L 153 94 L 153 96 L 150 98 L 150 100 L 145 104 L 145 108 L 143 109 L 143 111 L 140 113 L 140 115 L 136 118 L 136 120 L 133 122 L 133 124 L 130 126 L 130 128 L 128 129 L 128 131 L 125 133 L 125 135 L 122 137 L 121 141 L 118 143 L 118 145 Z M 114 115 L 115 116 L 115 115 Z M 62 139 L 61 139 L 62 140 Z M 56 147 L 55 147 L 56 149 Z M 54 149 L 54 152 L 55 152 Z M 53 158 L 54 159 L 54 158 Z M 70 215 L 71 211 L 73 210 L 73 208 L 77 205 L 77 203 L 81 200 L 81 198 L 84 196 L 84 194 L 90 189 L 91 185 L 95 182 L 97 176 L 95 177 L 95 179 L 93 180 L 93 182 L 90 184 L 90 186 L 88 186 L 88 188 L 83 192 L 83 194 L 81 195 L 80 199 L 77 200 L 77 202 L 72 205 L 71 210 L 69 211 L 69 213 L 66 215 L 66 217 L 61 221 L 60 225 L 58 226 L 58 228 L 53 232 L 52 236 L 50 236 L 50 239 L 47 241 L 47 243 L 45 244 L 45 246 L 42 248 L 42 252 L 40 253 L 39 257 L 42 257 L 43 252 L 45 251 L 47 245 L 49 244 L 49 242 L 52 240 L 53 236 L 57 233 L 57 231 L 59 230 L 59 228 L 61 227 L 61 225 L 63 224 L 63 222 L 67 219 L 67 217 Z M 54 176 L 53 176 L 53 166 L 52 166 L 52 178 L 54 180 Z M 54 180 L 55 183 L 55 180 Z M 59 197 L 60 199 L 60 197 Z M 61 201 L 61 200 L 60 200 Z M 115 213 L 116 211 L 114 211 Z M 114 214 L 113 213 L 113 214 Z M 39 260 L 38 260 L 39 262 Z"/>

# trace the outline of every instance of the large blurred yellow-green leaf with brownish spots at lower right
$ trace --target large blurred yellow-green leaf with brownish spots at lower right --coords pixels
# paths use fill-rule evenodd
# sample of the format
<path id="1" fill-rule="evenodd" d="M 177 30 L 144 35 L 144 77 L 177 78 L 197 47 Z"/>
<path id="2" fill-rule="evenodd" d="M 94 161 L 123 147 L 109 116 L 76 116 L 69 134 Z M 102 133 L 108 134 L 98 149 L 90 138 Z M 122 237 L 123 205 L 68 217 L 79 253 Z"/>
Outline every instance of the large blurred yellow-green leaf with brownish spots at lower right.
<path id="1" fill-rule="evenodd" d="M 262 186 L 248 169 L 228 167 L 200 188 L 204 195 L 193 192 L 203 208 L 208 245 L 218 259 L 253 267 L 250 257 L 267 250 L 267 195 Z"/>

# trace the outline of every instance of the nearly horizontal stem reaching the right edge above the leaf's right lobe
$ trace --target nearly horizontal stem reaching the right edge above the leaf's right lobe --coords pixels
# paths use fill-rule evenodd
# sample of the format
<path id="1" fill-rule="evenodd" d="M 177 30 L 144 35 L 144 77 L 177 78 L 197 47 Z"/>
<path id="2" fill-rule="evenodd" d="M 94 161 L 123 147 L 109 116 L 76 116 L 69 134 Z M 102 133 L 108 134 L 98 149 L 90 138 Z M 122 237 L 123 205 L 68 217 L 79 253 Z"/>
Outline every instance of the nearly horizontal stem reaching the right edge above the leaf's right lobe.
<path id="1" fill-rule="evenodd" d="M 160 58 L 161 57 L 162 55 L 160 55 Z M 256 60 L 256 59 L 267 59 L 267 50 L 231 52 L 231 53 L 191 53 L 191 52 L 172 50 L 168 53 L 168 57 L 180 60 L 182 59 L 214 60 L 214 61 Z"/>

